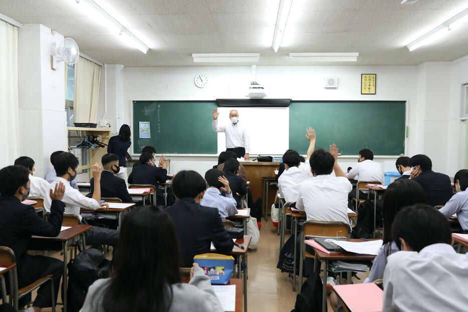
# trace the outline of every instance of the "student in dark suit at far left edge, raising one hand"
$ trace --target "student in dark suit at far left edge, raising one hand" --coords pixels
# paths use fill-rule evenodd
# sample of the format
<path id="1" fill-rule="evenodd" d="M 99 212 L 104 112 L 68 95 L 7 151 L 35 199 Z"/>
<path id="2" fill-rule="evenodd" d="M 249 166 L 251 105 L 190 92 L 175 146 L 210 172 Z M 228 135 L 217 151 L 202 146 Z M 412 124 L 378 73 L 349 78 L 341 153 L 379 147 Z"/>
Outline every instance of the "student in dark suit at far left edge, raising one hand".
<path id="1" fill-rule="evenodd" d="M 62 202 L 65 185 L 57 183 L 49 197 L 52 199 L 49 220 L 39 217 L 31 205 L 22 204 L 29 195 L 31 182 L 29 171 L 23 166 L 8 166 L 0 170 L 0 246 L 7 246 L 15 252 L 18 271 L 18 287 L 22 288 L 48 274 L 53 274 L 55 299 L 59 292 L 60 279 L 63 275 L 63 261 L 42 255 L 27 253 L 32 235 L 55 237 L 62 226 L 65 204 Z M 67 183 L 68 184 L 68 183 Z M 68 185 L 70 187 L 70 185 Z M 8 274 L 5 274 L 7 283 Z M 7 286 L 7 289 L 10 287 Z M 10 294 L 12 295 L 12 294 Z M 19 306 L 31 301 L 31 294 L 20 300 Z M 41 311 L 52 306 L 51 285 L 43 284 L 33 303 L 26 311 Z"/>

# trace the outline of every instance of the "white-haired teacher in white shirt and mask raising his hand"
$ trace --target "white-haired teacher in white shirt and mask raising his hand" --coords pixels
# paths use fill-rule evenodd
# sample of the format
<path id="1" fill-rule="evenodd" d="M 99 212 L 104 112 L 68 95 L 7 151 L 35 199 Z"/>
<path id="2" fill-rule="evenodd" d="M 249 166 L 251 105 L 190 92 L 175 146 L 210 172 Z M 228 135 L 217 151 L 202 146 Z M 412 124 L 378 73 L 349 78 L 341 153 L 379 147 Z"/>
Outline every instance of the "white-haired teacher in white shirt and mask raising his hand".
<path id="1" fill-rule="evenodd" d="M 226 134 L 226 152 L 235 152 L 238 158 L 244 157 L 249 160 L 250 140 L 247 130 L 239 124 L 239 113 L 237 110 L 229 112 L 230 123 L 218 125 L 218 109 L 213 110 L 213 131 Z"/>

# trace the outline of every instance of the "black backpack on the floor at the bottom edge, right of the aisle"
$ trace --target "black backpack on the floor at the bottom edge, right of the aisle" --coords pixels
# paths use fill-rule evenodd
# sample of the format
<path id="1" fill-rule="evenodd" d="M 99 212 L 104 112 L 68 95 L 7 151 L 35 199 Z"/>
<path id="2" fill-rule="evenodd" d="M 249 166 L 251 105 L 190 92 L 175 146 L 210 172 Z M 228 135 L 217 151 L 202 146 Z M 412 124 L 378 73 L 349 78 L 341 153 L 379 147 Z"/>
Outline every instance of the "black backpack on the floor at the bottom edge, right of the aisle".
<path id="1" fill-rule="evenodd" d="M 322 310 L 322 279 L 312 273 L 302 284 L 301 293 L 296 296 L 296 304 L 291 312 L 316 312 Z"/>

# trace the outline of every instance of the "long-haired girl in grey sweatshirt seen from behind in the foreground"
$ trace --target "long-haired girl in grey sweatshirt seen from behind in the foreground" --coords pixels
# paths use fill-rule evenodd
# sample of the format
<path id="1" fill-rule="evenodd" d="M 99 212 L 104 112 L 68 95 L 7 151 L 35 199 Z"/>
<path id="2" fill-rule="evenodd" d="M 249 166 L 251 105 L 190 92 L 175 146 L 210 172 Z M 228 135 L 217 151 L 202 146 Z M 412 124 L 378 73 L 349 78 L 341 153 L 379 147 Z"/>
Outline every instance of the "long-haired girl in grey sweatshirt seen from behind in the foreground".
<path id="1" fill-rule="evenodd" d="M 222 312 L 208 276 L 192 262 L 190 281 L 180 277 L 174 223 L 159 206 L 136 207 L 122 223 L 112 276 L 88 289 L 80 312 Z"/>

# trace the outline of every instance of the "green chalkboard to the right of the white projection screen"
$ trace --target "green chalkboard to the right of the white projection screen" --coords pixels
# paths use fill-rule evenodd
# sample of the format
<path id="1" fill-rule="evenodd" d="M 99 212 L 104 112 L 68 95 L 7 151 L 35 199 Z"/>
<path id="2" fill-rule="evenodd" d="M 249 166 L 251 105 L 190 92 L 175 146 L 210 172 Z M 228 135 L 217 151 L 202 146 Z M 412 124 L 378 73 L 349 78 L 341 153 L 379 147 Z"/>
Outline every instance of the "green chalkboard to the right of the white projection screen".
<path id="1" fill-rule="evenodd" d="M 374 155 L 404 154 L 404 101 L 294 101 L 289 107 L 289 147 L 307 151 L 306 127 L 315 128 L 316 148 L 335 143 L 342 155 L 364 148 Z"/>

